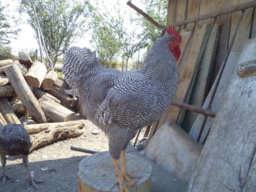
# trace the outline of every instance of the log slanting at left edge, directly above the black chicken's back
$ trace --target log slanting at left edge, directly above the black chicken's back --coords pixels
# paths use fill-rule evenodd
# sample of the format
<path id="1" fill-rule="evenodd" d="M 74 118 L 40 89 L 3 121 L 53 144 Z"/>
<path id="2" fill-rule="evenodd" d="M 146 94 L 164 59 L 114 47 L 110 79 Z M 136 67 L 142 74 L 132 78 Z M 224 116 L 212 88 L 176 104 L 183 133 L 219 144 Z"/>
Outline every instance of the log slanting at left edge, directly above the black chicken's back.
<path id="1" fill-rule="evenodd" d="M 0 112 L 8 124 L 20 124 L 18 117 L 14 113 L 14 110 L 11 108 L 11 105 L 6 97 L 0 98 Z"/>

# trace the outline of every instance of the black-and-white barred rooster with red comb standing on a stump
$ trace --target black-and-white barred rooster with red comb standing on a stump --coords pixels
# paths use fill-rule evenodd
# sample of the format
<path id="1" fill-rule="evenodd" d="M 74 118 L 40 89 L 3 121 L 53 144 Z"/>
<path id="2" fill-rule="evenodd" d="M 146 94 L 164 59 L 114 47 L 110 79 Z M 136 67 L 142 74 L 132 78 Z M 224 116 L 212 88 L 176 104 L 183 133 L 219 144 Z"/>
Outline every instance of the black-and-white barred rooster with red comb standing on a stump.
<path id="1" fill-rule="evenodd" d="M 169 27 L 142 67 L 128 72 L 103 67 L 88 48 L 71 47 L 66 53 L 62 72 L 71 88 L 66 92 L 79 98 L 80 116 L 108 136 L 120 192 L 136 183 L 131 177 L 141 177 L 127 173 L 125 148 L 138 129 L 159 120 L 170 105 L 178 87 L 176 61 L 182 45 L 181 35 Z"/>

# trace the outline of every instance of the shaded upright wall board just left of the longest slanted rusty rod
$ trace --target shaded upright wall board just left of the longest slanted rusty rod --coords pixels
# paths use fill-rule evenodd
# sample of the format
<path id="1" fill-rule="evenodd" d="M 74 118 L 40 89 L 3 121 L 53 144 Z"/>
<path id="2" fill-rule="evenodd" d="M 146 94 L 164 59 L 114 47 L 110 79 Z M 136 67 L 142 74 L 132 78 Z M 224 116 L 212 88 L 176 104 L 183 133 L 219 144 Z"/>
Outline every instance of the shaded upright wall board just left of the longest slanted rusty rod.
<path id="1" fill-rule="evenodd" d="M 214 1 L 214 11 L 221 10 L 223 8 L 231 7 L 233 5 L 233 0 L 215 0 Z M 221 24 L 221 34 L 219 36 L 219 43 L 217 47 L 217 52 L 214 60 L 214 66 L 212 69 L 212 78 L 211 83 L 212 85 L 215 81 L 216 76 L 218 75 L 219 69 L 221 68 L 221 64 L 225 59 L 227 49 L 229 46 L 229 31 L 230 31 L 230 20 L 231 20 L 231 13 L 218 16 L 216 19 L 216 23 Z"/>

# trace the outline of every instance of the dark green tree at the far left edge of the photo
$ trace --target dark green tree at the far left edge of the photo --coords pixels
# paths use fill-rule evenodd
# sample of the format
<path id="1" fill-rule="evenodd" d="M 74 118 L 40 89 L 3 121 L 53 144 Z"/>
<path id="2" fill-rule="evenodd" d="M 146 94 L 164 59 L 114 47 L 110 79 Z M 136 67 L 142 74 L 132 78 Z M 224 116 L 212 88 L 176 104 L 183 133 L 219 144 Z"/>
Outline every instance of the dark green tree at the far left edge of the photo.
<path id="1" fill-rule="evenodd" d="M 3 13 L 5 8 L 6 7 L 1 5 L 0 1 L 0 45 L 10 44 L 10 38 L 16 38 L 15 36 L 18 35 L 18 32 L 20 31 L 19 28 L 16 27 L 16 29 L 13 29 L 15 27 L 11 26 L 10 20 L 14 24 L 17 21 L 14 19 L 14 17 L 10 19 L 10 17 L 7 14 Z"/>

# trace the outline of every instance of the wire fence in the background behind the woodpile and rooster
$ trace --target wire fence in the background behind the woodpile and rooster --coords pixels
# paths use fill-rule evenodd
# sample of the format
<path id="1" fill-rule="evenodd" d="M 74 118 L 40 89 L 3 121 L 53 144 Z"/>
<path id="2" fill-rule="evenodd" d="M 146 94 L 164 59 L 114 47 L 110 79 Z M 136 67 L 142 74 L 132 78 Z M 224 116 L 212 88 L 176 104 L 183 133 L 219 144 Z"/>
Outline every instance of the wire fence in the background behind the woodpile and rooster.
<path id="1" fill-rule="evenodd" d="M 18 55 L 20 51 L 29 54 L 32 61 L 38 60 L 42 62 L 39 49 L 18 49 L 18 48 L 6 48 L 6 47 L 0 47 L 0 60 L 5 60 L 5 59 L 11 59 L 13 61 L 19 60 Z M 65 59 L 64 54 L 58 58 L 54 66 L 54 69 L 56 71 L 61 71 L 64 59 Z M 45 62 L 46 62 L 46 67 L 49 67 L 49 61 L 46 58 L 46 56 L 45 56 Z M 101 61 L 101 63 L 104 67 L 110 68 L 109 61 Z M 142 65 L 142 62 L 139 61 L 139 58 L 136 60 L 131 59 L 131 62 L 128 63 L 127 69 L 128 71 L 133 69 L 138 69 L 141 65 Z M 122 57 L 116 58 L 114 61 L 111 62 L 111 68 L 116 69 L 117 71 L 126 71 L 126 60 Z"/>

